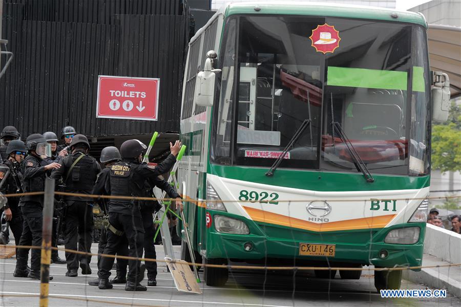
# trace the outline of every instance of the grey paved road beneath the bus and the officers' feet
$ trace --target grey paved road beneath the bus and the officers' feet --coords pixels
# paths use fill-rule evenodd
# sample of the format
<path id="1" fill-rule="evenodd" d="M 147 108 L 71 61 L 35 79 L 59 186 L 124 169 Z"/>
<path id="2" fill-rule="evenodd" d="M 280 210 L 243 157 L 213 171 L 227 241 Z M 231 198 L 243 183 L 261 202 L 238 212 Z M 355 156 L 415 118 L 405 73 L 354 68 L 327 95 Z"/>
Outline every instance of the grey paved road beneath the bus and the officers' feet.
<path id="1" fill-rule="evenodd" d="M 93 244 L 92 251 L 97 246 Z M 157 246 L 159 256 L 163 248 Z M 62 253 L 62 252 L 60 252 Z M 63 257 L 64 254 L 61 255 Z M 63 257 L 64 258 L 64 257 Z M 39 281 L 15 278 L 12 275 L 15 258 L 0 259 L 0 306 L 37 306 L 38 297 L 11 297 L 6 295 L 37 295 Z M 126 292 L 123 285 L 112 290 L 99 290 L 88 286 L 87 281 L 96 277 L 96 265 L 92 275 L 66 277 L 66 265 L 51 265 L 54 279 L 50 282 L 50 306 L 108 306 L 89 300 L 119 302 L 127 305 L 147 306 L 460 306 L 461 299 L 449 295 L 435 299 L 384 299 L 376 294 L 373 277 L 364 275 L 360 280 L 316 279 L 313 272 L 295 280 L 289 274 L 259 271 L 235 271 L 225 287 L 213 288 L 201 283 L 203 295 L 179 293 L 170 273 L 160 264 L 158 286 L 146 292 Z M 80 270 L 79 270 L 80 271 Z M 80 273 L 80 272 L 79 272 Z M 202 272 L 201 272 L 202 273 Z M 115 274 L 115 272 L 114 272 Z M 364 274 L 371 274 L 364 271 Z M 203 277 L 201 277 L 203 280 Z M 144 282 L 145 284 L 145 282 Z M 295 286 L 295 287 L 294 287 Z M 425 289 L 425 286 L 403 281 L 403 289 Z M 294 291 L 296 289 L 296 291 Z M 116 305 L 114 305 L 116 306 Z"/>

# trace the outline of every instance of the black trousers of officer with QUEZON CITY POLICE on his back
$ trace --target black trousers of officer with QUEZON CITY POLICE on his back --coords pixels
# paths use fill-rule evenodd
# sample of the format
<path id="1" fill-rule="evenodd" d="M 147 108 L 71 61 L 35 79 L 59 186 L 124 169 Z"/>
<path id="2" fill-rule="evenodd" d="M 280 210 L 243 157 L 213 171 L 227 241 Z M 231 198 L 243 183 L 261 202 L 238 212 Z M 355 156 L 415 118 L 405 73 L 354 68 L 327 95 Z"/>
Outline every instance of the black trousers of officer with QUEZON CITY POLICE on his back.
<path id="1" fill-rule="evenodd" d="M 117 212 L 109 213 L 109 223 L 115 229 L 123 231 L 124 235 L 116 235 L 111 230 L 107 231 L 107 245 L 104 248 L 104 254 L 115 255 L 123 246 L 129 247 L 129 256 L 141 257 L 144 243 L 144 228 L 142 227 L 141 217 Z M 98 277 L 108 280 L 111 275 L 111 269 L 114 264 L 114 258 L 103 257 L 100 262 Z M 128 281 L 137 282 L 140 272 L 139 260 L 128 261 Z M 126 266 L 125 266 L 126 267 Z"/>

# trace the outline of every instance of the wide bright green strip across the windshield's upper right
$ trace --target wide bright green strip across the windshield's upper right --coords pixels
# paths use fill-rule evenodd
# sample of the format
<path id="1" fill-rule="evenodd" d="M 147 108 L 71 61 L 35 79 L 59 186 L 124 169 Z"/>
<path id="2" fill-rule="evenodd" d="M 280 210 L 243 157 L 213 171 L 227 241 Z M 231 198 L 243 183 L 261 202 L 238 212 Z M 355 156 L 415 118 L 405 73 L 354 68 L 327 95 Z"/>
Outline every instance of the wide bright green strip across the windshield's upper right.
<path id="1" fill-rule="evenodd" d="M 406 91 L 407 73 L 329 66 L 327 85 Z"/>

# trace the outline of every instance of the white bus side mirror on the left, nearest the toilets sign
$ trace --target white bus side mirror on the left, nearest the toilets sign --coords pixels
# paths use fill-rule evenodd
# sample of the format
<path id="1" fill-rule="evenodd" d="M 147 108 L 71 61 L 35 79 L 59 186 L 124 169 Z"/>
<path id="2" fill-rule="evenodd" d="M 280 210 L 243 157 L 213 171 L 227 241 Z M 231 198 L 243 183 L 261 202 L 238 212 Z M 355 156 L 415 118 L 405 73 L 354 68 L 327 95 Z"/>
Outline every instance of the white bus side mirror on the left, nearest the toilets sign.
<path id="1" fill-rule="evenodd" d="M 220 69 L 213 69 L 213 61 L 217 57 L 215 51 L 210 50 L 206 53 L 205 67 L 202 72 L 197 74 L 195 81 L 195 104 L 200 106 L 212 106 L 215 96 L 215 77 L 220 73 Z"/>

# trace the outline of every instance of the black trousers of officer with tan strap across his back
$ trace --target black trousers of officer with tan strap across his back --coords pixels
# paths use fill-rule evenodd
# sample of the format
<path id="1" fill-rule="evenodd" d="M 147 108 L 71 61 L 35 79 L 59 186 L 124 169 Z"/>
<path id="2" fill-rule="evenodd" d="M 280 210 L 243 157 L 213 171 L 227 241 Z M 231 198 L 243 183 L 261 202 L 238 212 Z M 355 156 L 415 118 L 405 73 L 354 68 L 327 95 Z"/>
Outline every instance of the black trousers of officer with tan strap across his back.
<path id="1" fill-rule="evenodd" d="M 66 249 L 91 252 L 93 243 L 93 209 L 86 202 L 68 202 L 66 211 L 65 239 Z M 78 270 L 78 264 L 90 264 L 91 256 L 66 252 L 68 270 Z"/>

